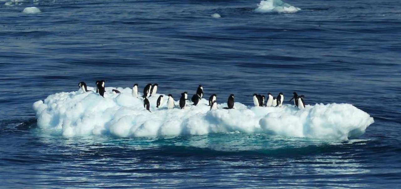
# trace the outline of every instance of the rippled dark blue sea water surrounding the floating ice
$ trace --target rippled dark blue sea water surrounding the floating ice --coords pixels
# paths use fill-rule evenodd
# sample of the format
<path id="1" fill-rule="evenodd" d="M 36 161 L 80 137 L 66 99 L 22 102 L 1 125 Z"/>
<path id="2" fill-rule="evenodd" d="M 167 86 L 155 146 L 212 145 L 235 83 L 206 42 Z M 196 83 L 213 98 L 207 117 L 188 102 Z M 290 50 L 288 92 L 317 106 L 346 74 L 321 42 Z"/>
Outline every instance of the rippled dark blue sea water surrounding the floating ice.
<path id="1" fill-rule="evenodd" d="M 398 188 L 398 0 L 0 2 L 0 187 Z M 20 1 L 21 2 L 21 1 Z M 36 6 L 39 14 L 25 14 Z M 221 18 L 213 18 L 218 13 Z M 161 137 L 49 135 L 32 103 L 93 86 L 158 83 L 252 105 L 253 93 L 350 103 L 375 123 L 345 141 L 247 133 Z"/>

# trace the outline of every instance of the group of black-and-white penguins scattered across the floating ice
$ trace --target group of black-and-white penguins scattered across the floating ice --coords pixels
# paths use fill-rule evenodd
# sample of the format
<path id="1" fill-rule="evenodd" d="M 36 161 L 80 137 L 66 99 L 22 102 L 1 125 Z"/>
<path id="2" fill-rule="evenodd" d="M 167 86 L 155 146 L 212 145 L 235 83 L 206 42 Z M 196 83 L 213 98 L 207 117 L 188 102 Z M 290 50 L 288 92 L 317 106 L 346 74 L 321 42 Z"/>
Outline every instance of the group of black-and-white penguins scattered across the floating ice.
<path id="1" fill-rule="evenodd" d="M 79 82 L 78 87 L 81 88 L 84 92 L 88 92 L 87 90 L 87 85 L 85 82 Z M 158 88 L 158 84 L 147 84 L 144 88 L 144 95 L 142 96 L 144 98 L 144 107 L 146 110 L 150 111 L 150 103 L 148 100 L 148 97 L 154 97 L 156 95 Z M 119 94 L 118 90 L 113 89 L 113 94 Z M 96 93 L 99 93 L 102 97 L 104 97 L 104 92 L 105 92 L 105 81 L 104 80 L 99 80 L 96 81 Z M 304 109 L 305 108 L 305 102 L 304 102 L 304 95 L 298 96 L 296 92 L 293 93 L 294 96 L 290 101 L 294 99 L 294 105 L 296 105 L 299 109 Z M 196 94 L 194 94 L 191 98 L 192 105 L 197 105 L 199 101 L 203 98 L 203 86 L 199 85 L 198 89 L 196 90 Z M 132 96 L 139 98 L 139 91 L 138 91 L 138 84 L 134 84 L 132 87 Z M 209 106 L 210 110 L 217 109 L 217 102 L 216 102 L 217 95 L 212 94 L 209 97 Z M 160 95 L 157 99 L 156 102 L 156 107 L 158 108 L 162 103 L 163 103 L 164 96 Z M 184 109 L 186 106 L 186 101 L 188 99 L 188 92 L 183 92 L 181 93 L 180 97 L 180 108 Z M 284 101 L 284 94 L 279 93 L 279 95 L 276 97 L 273 97 L 271 93 L 267 93 L 267 102 L 265 104 L 265 96 L 260 95 L 260 94 L 253 94 L 253 103 L 255 106 L 264 106 L 264 107 L 281 107 L 283 105 Z M 168 94 L 168 99 L 167 99 L 167 108 L 172 109 L 174 108 L 174 99 L 171 94 Z M 233 109 L 234 108 L 234 95 L 230 94 L 227 100 L 227 107 L 223 107 L 223 109 Z M 151 112 L 151 111 L 150 111 Z"/>

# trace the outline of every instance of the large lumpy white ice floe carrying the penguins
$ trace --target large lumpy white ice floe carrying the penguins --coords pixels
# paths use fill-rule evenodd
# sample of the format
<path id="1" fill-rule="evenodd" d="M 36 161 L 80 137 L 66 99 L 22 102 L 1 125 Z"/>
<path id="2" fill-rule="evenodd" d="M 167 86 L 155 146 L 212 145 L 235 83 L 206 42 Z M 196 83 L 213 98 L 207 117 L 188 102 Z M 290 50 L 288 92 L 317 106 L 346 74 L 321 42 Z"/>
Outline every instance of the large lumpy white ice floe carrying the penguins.
<path id="1" fill-rule="evenodd" d="M 247 107 L 236 102 L 235 109 L 210 111 L 208 101 L 197 106 L 188 102 L 184 109 L 167 109 L 167 96 L 160 108 L 157 97 L 150 97 L 150 113 L 143 99 L 132 97 L 130 88 L 117 88 L 113 94 L 106 88 L 104 98 L 93 92 L 61 92 L 33 104 L 37 125 L 43 132 L 67 137 L 83 135 L 115 135 L 140 137 L 160 135 L 203 135 L 207 133 L 267 133 L 289 137 L 348 139 L 365 133 L 374 121 L 368 113 L 350 104 L 306 105 L 299 110 L 283 107 Z M 175 99 L 179 99 L 175 96 Z M 225 102 L 227 97 L 217 97 Z M 178 101 L 175 103 L 178 105 Z"/>

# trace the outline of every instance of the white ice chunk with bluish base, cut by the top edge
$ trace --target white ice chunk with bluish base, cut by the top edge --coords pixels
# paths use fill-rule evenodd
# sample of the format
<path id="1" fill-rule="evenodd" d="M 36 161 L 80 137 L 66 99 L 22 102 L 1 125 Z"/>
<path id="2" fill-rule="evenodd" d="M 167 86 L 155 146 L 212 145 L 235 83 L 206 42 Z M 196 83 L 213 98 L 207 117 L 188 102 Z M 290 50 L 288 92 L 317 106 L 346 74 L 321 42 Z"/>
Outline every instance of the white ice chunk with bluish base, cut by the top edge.
<path id="1" fill-rule="evenodd" d="M 279 12 L 279 13 L 294 13 L 301 10 L 298 7 L 292 6 L 281 0 L 265 0 L 257 4 L 256 12 Z"/>

